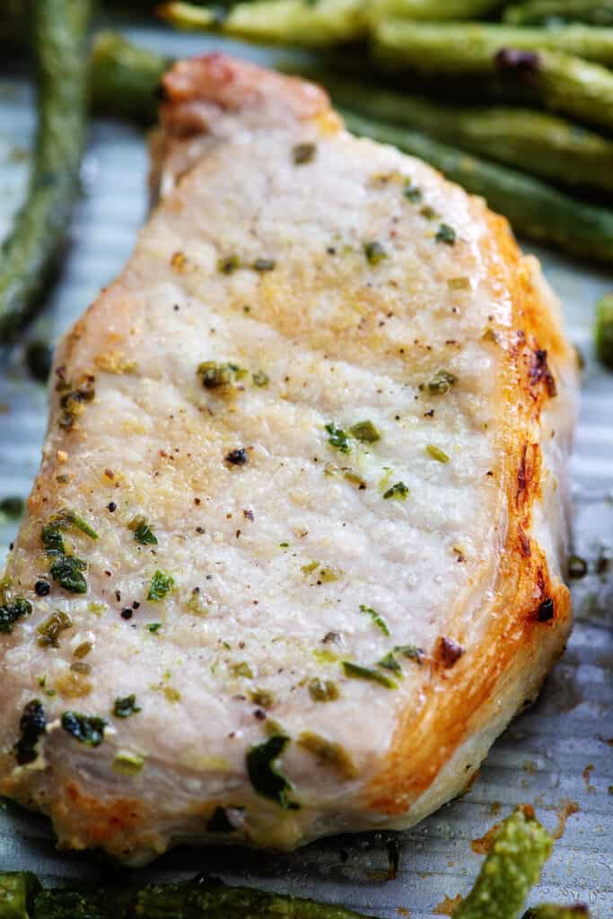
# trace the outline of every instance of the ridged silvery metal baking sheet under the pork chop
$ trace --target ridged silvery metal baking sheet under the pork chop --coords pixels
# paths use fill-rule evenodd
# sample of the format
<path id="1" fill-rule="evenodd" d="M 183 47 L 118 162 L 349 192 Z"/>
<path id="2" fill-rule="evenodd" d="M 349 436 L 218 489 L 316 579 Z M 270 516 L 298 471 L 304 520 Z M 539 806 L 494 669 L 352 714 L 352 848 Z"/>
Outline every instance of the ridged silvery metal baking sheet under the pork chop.
<path id="1" fill-rule="evenodd" d="M 132 28 L 129 34 L 176 55 L 220 44 L 155 28 Z M 224 47 L 267 60 L 265 51 L 236 43 Z M 23 194 L 32 128 L 27 82 L 0 73 L 0 236 Z M 50 292 L 30 337 L 56 341 L 122 267 L 146 212 L 147 166 L 142 132 L 111 121 L 93 124 L 84 194 L 61 283 Z M 143 870 L 143 880 L 187 878 L 205 870 L 230 882 L 341 902 L 378 917 L 410 913 L 426 919 L 449 913 L 449 901 L 470 889 L 482 859 L 472 841 L 515 805 L 529 803 L 561 832 L 530 902 L 586 902 L 595 919 L 613 916 L 613 581 L 607 572 L 613 547 L 613 375 L 596 365 L 592 350 L 594 305 L 613 290 L 613 275 L 538 255 L 585 357 L 572 470 L 575 547 L 590 570 L 573 586 L 573 636 L 539 701 L 494 744 L 470 792 L 413 830 L 335 837 L 281 855 L 181 848 Z M 46 419 L 45 389 L 28 377 L 23 346 L 17 346 L 0 372 L 0 497 L 28 494 Z M 16 529 L 0 522 L 0 562 Z M 392 839 L 400 847 L 396 879 L 388 879 Z M 0 868 L 29 868 L 49 883 L 118 873 L 96 854 L 57 852 L 48 821 L 8 803 L 0 809 Z"/>

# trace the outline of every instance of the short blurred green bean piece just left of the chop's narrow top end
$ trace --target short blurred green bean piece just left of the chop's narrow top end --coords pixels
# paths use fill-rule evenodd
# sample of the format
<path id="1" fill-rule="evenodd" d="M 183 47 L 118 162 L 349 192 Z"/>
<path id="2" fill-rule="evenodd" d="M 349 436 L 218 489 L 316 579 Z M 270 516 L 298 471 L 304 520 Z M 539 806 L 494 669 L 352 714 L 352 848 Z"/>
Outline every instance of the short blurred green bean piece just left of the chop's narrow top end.
<path id="1" fill-rule="evenodd" d="M 116 32 L 101 32 L 92 47 L 89 92 L 96 112 L 151 124 L 157 119 L 155 90 L 170 58 L 138 48 Z"/>

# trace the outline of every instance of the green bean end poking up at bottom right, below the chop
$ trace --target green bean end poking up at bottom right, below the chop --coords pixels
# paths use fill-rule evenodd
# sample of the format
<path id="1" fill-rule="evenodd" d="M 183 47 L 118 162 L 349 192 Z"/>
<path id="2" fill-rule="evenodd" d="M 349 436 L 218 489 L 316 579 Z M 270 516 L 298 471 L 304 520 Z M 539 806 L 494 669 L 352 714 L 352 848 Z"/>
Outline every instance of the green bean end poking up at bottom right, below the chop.
<path id="1" fill-rule="evenodd" d="M 454 919 L 517 919 L 552 845 L 550 834 L 534 815 L 517 808 L 496 834 L 479 877 L 453 913 Z"/>

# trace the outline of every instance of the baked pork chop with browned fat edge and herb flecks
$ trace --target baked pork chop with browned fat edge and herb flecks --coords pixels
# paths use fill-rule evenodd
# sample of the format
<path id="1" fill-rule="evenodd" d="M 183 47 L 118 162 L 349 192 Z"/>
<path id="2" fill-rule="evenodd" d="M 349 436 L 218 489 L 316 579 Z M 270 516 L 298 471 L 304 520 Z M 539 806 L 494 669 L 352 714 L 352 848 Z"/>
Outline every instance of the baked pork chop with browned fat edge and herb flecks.
<path id="1" fill-rule="evenodd" d="M 576 387 L 506 222 L 221 56 L 59 348 L 0 617 L 0 791 L 139 864 L 407 827 L 571 625 Z"/>

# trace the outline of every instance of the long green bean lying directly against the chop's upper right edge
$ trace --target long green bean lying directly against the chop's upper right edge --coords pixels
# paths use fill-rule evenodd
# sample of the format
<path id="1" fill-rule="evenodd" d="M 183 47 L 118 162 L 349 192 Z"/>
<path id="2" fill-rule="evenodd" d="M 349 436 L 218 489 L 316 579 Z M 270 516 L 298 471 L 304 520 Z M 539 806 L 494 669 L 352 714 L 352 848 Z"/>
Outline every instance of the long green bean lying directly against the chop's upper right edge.
<path id="1" fill-rule="evenodd" d="M 572 198 L 540 179 L 433 141 L 417 131 L 392 128 L 344 111 L 348 130 L 419 156 L 454 182 L 487 199 L 518 234 L 571 255 L 613 264 L 613 211 Z"/>

